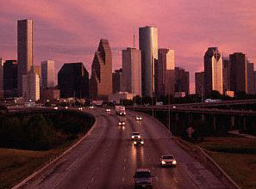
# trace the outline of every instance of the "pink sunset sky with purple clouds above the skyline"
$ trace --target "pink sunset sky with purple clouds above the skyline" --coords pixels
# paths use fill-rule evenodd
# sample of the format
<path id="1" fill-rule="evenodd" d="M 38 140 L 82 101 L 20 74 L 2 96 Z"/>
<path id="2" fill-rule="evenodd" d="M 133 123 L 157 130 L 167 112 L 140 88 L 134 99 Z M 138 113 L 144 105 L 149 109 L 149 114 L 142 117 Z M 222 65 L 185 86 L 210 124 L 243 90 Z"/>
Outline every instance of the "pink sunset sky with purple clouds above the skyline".
<path id="1" fill-rule="evenodd" d="M 16 59 L 16 21 L 34 20 L 34 64 L 53 59 L 91 62 L 101 38 L 108 39 L 113 70 L 122 66 L 122 49 L 133 45 L 139 27 L 159 28 L 159 48 L 175 51 L 176 66 L 203 70 L 203 55 L 218 46 L 228 56 L 244 52 L 256 61 L 255 0 L 0 0 L 0 57 Z"/>

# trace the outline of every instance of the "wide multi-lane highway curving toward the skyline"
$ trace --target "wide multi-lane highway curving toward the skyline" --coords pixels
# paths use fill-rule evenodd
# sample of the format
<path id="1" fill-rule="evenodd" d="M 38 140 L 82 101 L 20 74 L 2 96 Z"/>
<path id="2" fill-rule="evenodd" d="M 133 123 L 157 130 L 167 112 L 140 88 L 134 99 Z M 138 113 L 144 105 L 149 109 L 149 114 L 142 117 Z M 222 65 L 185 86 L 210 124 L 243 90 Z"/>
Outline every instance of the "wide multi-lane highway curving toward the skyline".
<path id="1" fill-rule="evenodd" d="M 134 188 L 136 168 L 149 168 L 154 189 L 226 189 L 220 180 L 179 148 L 157 120 L 143 114 L 143 120 L 136 121 L 134 112 L 118 117 L 114 110 L 111 113 L 103 109 L 86 111 L 95 114 L 97 119 L 90 134 L 24 188 L 128 189 Z M 124 128 L 118 126 L 119 119 L 125 120 Z M 142 134 L 144 146 L 134 146 L 133 131 Z M 161 168 L 159 159 L 163 154 L 174 155 L 178 166 Z"/>

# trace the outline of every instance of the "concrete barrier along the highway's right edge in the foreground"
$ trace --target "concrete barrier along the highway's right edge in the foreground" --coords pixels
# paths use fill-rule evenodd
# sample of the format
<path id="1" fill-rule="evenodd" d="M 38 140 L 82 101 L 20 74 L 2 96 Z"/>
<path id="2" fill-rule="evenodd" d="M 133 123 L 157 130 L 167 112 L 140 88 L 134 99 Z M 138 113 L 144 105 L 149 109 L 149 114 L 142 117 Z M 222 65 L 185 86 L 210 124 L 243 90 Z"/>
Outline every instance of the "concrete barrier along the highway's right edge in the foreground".
<path id="1" fill-rule="evenodd" d="M 192 157 L 194 157 L 198 162 L 201 162 L 205 168 L 208 168 L 217 178 L 222 180 L 223 184 L 227 186 L 229 189 L 240 189 L 234 180 L 232 180 L 228 174 L 226 174 L 220 166 L 209 156 L 207 155 L 203 149 L 200 147 L 191 145 L 190 143 L 185 142 L 184 140 L 173 137 L 174 141 L 178 143 L 178 145 L 187 151 Z"/>

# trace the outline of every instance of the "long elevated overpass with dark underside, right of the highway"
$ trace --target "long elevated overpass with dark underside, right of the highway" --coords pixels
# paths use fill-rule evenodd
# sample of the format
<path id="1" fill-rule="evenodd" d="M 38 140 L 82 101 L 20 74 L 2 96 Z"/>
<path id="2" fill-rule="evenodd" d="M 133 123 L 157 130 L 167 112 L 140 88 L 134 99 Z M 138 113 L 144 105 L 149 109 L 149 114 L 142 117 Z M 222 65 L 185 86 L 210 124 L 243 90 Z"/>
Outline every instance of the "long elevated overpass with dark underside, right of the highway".
<path id="1" fill-rule="evenodd" d="M 237 105 L 256 103 L 256 101 L 236 101 Z M 224 106 L 232 104 L 231 101 L 225 102 Z M 191 104 L 193 105 L 193 104 Z M 193 105 L 194 106 L 194 105 Z M 238 129 L 240 131 L 249 131 L 256 134 L 256 111 L 253 110 L 236 110 L 236 109 L 219 109 L 217 104 L 213 107 L 206 107 L 205 103 L 200 104 L 202 107 L 193 107 L 190 104 L 181 106 L 152 106 L 152 107 L 127 107 L 133 111 L 150 114 L 159 119 L 168 128 L 171 128 L 174 134 L 181 134 L 189 126 L 197 127 L 204 125 L 208 127 L 209 134 L 224 134 L 228 130 Z M 195 105 L 199 106 L 199 105 Z M 214 107 L 215 106 L 215 107 Z"/>

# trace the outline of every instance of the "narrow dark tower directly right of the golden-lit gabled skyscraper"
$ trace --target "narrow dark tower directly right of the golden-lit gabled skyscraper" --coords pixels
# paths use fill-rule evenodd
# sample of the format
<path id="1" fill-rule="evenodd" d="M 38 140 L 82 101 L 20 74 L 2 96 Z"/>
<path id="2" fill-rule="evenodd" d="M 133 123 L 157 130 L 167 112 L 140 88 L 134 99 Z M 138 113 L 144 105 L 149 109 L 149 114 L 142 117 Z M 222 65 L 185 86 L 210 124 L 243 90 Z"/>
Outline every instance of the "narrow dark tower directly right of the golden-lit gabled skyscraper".
<path id="1" fill-rule="evenodd" d="M 230 91 L 230 61 L 229 58 L 223 57 L 222 58 L 223 70 L 222 70 L 222 77 L 223 77 L 223 94 L 226 94 L 227 91 Z"/>

